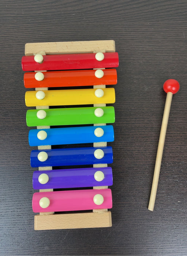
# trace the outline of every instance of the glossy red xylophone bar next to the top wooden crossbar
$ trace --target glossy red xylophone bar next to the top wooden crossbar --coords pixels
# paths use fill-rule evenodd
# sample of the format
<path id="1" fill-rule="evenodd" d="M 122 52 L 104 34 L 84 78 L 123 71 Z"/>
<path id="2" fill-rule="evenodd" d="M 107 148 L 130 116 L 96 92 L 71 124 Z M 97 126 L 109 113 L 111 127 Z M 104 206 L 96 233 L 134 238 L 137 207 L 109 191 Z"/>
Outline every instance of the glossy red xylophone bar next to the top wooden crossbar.
<path id="1" fill-rule="evenodd" d="M 37 63 L 34 56 L 22 57 L 23 71 L 70 70 L 89 68 L 115 68 L 119 65 L 117 52 L 106 52 L 104 59 L 95 59 L 96 53 L 43 55 L 43 62 Z"/>

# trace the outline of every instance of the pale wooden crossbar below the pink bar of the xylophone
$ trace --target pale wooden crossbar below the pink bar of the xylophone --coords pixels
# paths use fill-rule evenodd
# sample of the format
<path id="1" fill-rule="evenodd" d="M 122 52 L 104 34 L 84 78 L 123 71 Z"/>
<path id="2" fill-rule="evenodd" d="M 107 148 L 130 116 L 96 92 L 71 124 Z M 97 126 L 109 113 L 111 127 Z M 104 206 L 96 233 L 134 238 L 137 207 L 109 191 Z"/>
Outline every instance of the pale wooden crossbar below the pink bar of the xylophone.
<path id="1" fill-rule="evenodd" d="M 81 229 L 89 227 L 111 227 L 111 212 L 84 212 L 70 214 L 35 215 L 34 229 Z"/>

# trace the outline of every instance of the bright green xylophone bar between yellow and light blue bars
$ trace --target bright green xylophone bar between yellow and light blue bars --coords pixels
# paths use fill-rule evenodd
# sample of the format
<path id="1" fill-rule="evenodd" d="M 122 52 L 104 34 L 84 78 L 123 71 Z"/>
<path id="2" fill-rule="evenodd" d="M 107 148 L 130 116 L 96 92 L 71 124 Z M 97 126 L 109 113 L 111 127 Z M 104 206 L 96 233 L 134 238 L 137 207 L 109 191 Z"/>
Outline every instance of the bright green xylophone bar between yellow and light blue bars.
<path id="1" fill-rule="evenodd" d="M 39 109 L 27 110 L 27 126 L 107 124 L 115 122 L 114 107 L 100 107 L 104 111 L 102 117 L 95 116 L 94 111 L 96 108 L 97 107 L 43 109 L 47 114 L 44 119 L 37 117 Z"/>

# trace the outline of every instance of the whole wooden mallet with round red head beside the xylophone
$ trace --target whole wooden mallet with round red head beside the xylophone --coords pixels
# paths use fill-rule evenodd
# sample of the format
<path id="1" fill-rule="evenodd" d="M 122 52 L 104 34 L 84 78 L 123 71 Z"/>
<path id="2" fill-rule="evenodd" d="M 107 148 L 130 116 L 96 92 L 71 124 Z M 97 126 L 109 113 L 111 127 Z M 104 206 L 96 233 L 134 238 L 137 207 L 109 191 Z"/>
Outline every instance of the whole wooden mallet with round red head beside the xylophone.
<path id="1" fill-rule="evenodd" d="M 167 125 L 168 125 L 168 118 L 169 118 L 169 111 L 171 107 L 171 101 L 173 94 L 177 93 L 179 91 L 179 83 L 178 81 L 174 79 L 168 79 L 165 81 L 163 89 L 167 93 L 166 101 L 165 101 L 165 108 L 164 108 L 164 114 L 163 114 L 163 120 L 160 130 L 160 138 L 159 138 L 159 145 L 156 155 L 156 163 L 154 167 L 154 175 L 153 175 L 153 183 L 152 183 L 152 189 L 150 193 L 150 200 L 149 200 L 149 206 L 148 210 L 153 211 L 154 209 L 154 203 L 156 199 L 156 192 L 159 182 L 159 174 L 160 174 L 160 166 L 162 161 L 162 155 L 163 155 L 163 149 L 164 149 L 164 141 L 165 141 L 165 134 L 167 131 Z"/>

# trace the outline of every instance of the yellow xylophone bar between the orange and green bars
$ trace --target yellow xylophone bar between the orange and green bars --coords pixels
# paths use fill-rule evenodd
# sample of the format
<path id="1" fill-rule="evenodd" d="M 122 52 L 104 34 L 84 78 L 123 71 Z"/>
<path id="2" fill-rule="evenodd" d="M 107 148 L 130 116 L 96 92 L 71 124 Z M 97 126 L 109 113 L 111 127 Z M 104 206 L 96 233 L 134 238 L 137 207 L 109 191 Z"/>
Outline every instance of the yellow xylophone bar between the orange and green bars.
<path id="1" fill-rule="evenodd" d="M 98 89 L 73 89 L 73 90 L 42 90 L 26 91 L 25 103 L 27 107 L 33 106 L 63 106 L 63 105 L 89 105 L 98 103 L 114 103 L 114 88 L 102 88 L 104 95 L 96 97 Z M 101 90 L 101 89 L 99 89 Z M 39 92 L 39 93 L 38 93 Z M 43 93 L 44 94 L 43 94 Z M 38 99 L 38 98 L 43 99 Z"/>

